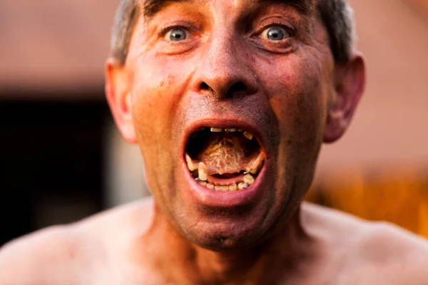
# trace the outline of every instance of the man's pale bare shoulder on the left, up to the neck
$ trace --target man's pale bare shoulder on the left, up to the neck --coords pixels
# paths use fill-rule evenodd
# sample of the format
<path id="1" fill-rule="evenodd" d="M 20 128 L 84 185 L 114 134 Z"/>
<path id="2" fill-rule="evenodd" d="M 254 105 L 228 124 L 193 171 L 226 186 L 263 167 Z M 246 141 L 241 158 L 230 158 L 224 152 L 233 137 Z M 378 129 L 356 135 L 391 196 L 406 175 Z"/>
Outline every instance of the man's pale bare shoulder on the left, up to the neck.
<path id="1" fill-rule="evenodd" d="M 120 242 L 115 232 L 124 239 L 148 227 L 150 206 L 133 202 L 9 242 L 0 248 L 0 285 L 88 284 L 85 271 L 102 266 L 111 244 Z"/>

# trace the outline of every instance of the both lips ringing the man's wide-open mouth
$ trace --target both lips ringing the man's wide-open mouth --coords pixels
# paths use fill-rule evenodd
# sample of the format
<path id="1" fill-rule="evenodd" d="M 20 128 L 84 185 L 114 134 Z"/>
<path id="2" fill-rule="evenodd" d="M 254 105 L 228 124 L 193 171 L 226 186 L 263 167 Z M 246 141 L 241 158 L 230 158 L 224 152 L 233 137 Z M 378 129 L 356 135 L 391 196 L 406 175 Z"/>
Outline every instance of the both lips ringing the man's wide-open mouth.
<path id="1" fill-rule="evenodd" d="M 236 192 L 220 192 L 210 190 L 202 185 L 199 185 L 198 182 L 195 181 L 193 176 L 191 175 L 188 167 L 185 163 L 184 153 L 185 153 L 185 145 L 188 142 L 190 135 L 202 127 L 211 127 L 211 128 L 240 128 L 242 130 L 248 131 L 252 133 L 255 138 L 258 140 L 258 143 L 261 147 L 261 150 L 265 152 L 265 147 L 263 143 L 263 135 L 255 128 L 254 126 L 240 121 L 240 120 L 199 120 L 193 124 L 191 124 L 186 130 L 183 139 L 183 145 L 181 147 L 181 157 L 180 157 L 180 165 L 182 167 L 183 172 L 185 173 L 185 182 L 188 185 L 188 190 L 190 192 L 190 196 L 195 199 L 198 204 L 203 204 L 208 207 L 237 207 L 245 204 L 253 204 L 260 200 L 260 197 L 263 195 L 262 186 L 265 182 L 265 173 L 267 169 L 268 159 L 265 152 L 265 162 L 263 163 L 263 167 L 258 173 L 257 178 L 253 185 L 250 185 L 245 190 L 239 190 Z"/>

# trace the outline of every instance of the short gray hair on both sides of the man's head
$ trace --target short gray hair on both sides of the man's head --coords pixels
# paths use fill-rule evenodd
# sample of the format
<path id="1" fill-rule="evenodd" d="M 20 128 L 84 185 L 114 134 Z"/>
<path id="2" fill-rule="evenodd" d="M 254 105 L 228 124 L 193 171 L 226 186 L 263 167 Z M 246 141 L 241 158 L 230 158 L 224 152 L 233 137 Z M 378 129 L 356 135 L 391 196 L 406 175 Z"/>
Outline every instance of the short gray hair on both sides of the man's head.
<path id="1" fill-rule="evenodd" d="M 121 0 L 113 25 L 111 56 L 125 64 L 133 30 L 141 15 L 141 0 Z M 355 25 L 346 0 L 317 0 L 317 12 L 327 29 L 330 49 L 336 63 L 350 60 L 354 47 Z"/>

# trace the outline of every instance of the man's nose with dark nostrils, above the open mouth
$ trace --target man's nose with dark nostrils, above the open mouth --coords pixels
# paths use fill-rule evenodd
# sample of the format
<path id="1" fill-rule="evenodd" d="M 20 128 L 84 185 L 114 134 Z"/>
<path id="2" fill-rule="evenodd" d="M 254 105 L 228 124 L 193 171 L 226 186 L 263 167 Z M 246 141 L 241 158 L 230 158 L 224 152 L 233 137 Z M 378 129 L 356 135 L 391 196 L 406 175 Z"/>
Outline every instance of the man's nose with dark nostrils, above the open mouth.
<path id="1" fill-rule="evenodd" d="M 257 92 L 257 79 L 248 66 L 248 58 L 228 37 L 205 43 L 201 65 L 193 75 L 193 90 L 210 93 L 216 98 L 250 95 Z"/>

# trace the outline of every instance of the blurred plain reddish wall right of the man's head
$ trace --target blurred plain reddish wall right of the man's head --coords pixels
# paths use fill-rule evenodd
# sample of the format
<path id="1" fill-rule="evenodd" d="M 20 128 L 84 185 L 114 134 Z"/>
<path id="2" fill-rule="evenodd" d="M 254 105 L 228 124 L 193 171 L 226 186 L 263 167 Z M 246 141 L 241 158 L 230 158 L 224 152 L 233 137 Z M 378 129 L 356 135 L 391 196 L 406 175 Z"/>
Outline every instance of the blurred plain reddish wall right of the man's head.
<path id="1" fill-rule="evenodd" d="M 428 165 L 428 21 L 399 0 L 352 0 L 367 92 L 348 133 L 326 145 L 320 170 Z"/>

